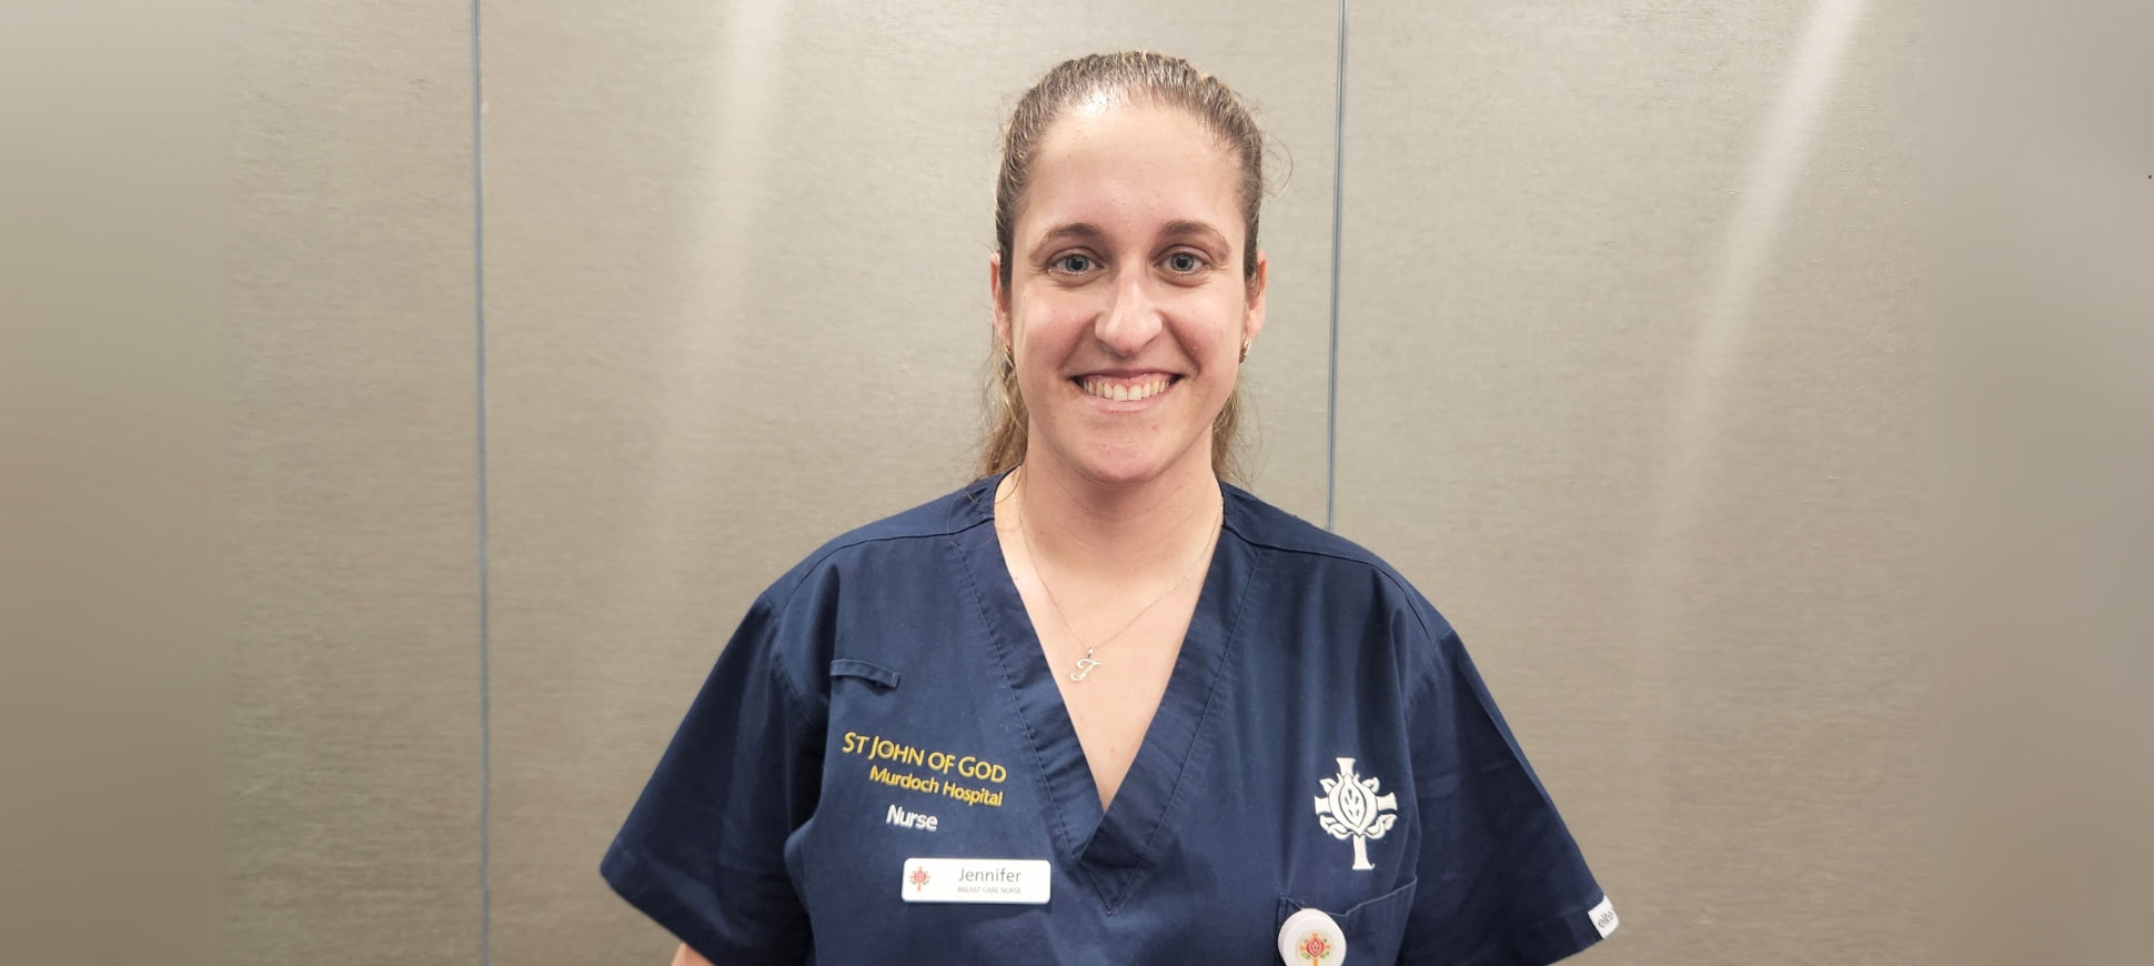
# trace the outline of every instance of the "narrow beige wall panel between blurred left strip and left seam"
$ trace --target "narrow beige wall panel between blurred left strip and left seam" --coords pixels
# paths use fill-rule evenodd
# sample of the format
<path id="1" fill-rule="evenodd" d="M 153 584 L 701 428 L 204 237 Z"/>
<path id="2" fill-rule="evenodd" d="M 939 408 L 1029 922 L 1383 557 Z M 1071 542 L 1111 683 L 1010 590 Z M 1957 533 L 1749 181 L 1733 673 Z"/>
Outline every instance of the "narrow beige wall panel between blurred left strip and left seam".
<path id="1" fill-rule="evenodd" d="M 478 955 L 467 22 L 230 34 L 226 964 Z"/>

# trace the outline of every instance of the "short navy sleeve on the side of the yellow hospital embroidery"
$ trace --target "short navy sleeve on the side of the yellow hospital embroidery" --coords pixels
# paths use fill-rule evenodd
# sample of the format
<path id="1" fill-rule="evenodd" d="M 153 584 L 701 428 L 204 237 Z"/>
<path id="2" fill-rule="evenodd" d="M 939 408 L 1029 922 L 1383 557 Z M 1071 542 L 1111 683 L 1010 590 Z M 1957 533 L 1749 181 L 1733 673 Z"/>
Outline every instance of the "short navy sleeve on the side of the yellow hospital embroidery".
<path id="1" fill-rule="evenodd" d="M 814 813 L 825 727 L 780 664 L 786 634 L 750 608 L 599 865 L 715 964 L 808 960 L 786 839 Z"/>

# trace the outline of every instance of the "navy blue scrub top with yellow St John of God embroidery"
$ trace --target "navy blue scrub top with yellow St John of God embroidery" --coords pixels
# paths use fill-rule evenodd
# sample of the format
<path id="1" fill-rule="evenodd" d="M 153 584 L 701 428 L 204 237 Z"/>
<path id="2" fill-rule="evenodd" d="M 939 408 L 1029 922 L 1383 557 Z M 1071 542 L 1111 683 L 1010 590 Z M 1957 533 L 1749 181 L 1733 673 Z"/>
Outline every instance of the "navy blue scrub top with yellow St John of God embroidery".
<path id="1" fill-rule="evenodd" d="M 849 533 L 754 602 L 601 862 L 614 891 L 717 966 L 1271 964 L 1301 908 L 1357 966 L 1540 966 L 1603 936 L 1450 623 L 1234 487 L 1103 811 L 995 483 Z M 1111 658 L 1081 686 L 1114 688 Z M 1049 901 L 907 903 L 909 858 L 1047 860 Z"/>

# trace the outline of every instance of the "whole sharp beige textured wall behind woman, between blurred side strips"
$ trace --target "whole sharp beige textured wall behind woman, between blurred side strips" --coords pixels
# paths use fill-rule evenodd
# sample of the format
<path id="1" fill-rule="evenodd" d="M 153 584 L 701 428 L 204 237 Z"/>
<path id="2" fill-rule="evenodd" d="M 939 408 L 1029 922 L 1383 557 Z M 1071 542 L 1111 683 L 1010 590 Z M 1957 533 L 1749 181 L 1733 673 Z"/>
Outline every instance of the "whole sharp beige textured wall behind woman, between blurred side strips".
<path id="1" fill-rule="evenodd" d="M 1924 962 L 1919 6 L 1355 6 L 1342 149 L 1329 2 L 254 6 L 230 962 L 663 962 L 597 860 L 754 593 L 967 479 L 997 125 L 1114 47 L 1290 157 L 1254 489 L 1460 625 L 1585 960 Z"/>

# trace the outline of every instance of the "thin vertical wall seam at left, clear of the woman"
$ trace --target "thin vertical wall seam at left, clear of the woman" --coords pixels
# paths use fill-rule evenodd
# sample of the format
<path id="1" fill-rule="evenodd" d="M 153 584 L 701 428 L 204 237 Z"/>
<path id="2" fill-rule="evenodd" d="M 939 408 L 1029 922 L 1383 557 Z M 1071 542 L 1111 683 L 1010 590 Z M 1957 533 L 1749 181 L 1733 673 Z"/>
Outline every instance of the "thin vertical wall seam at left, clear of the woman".
<path id="1" fill-rule="evenodd" d="M 478 962 L 493 962 L 493 690 L 491 597 L 487 580 L 487 177 L 482 73 L 478 69 L 478 0 L 472 0 L 472 328 L 476 351 L 478 455 Z"/>

